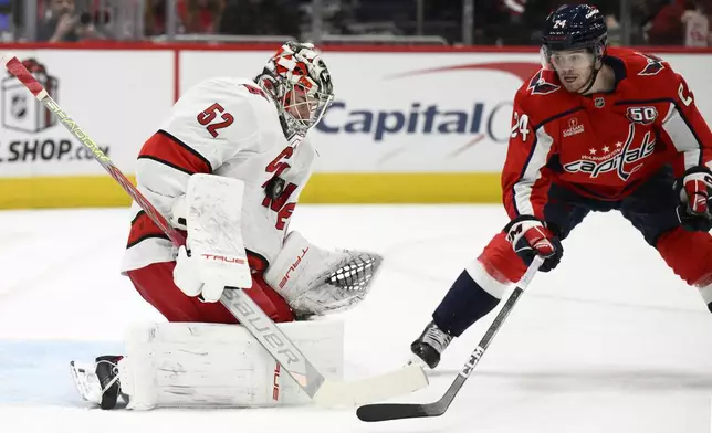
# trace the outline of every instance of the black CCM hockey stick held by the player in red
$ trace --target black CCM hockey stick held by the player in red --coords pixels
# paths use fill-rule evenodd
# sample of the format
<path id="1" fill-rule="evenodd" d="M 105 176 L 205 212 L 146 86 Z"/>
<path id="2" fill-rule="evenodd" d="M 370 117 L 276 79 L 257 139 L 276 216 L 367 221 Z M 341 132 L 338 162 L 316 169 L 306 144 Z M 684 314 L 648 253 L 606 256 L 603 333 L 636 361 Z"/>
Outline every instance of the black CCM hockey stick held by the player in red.
<path id="1" fill-rule="evenodd" d="M 538 255 L 534 257 L 534 260 L 532 261 L 532 264 L 526 270 L 526 273 L 524 273 L 524 276 L 517 284 L 516 288 L 512 292 L 510 297 L 506 299 L 506 303 L 504 304 L 500 313 L 494 318 L 494 321 L 492 321 L 492 325 L 490 325 L 490 328 L 488 329 L 488 331 L 484 332 L 484 337 L 482 337 L 482 339 L 480 340 L 480 344 L 478 345 L 478 347 L 474 348 L 474 350 L 470 355 L 470 358 L 468 358 L 468 361 L 462 367 L 462 370 L 460 370 L 460 373 L 458 374 L 457 378 L 454 378 L 454 381 L 452 381 L 452 384 L 450 384 L 450 388 L 448 388 L 448 390 L 440 398 L 440 400 L 436 401 L 434 403 L 427 403 L 427 404 L 417 404 L 417 403 L 367 404 L 356 410 L 356 415 L 358 416 L 358 419 L 366 422 L 375 422 L 375 421 L 402 420 L 408 418 L 440 416 L 443 413 L 446 413 L 446 411 L 450 406 L 450 403 L 452 403 L 452 400 L 460 391 L 460 388 L 462 388 L 464 382 L 470 377 L 470 373 L 472 373 L 472 370 L 474 370 L 474 367 L 478 365 L 478 362 L 480 362 L 480 358 L 482 358 L 482 356 L 484 355 L 484 351 L 490 346 L 490 342 L 492 342 L 492 338 L 494 338 L 496 332 L 502 327 L 502 324 L 512 311 L 514 304 L 516 304 L 522 293 L 530 285 L 530 282 L 538 271 L 543 261 L 544 260 Z"/>

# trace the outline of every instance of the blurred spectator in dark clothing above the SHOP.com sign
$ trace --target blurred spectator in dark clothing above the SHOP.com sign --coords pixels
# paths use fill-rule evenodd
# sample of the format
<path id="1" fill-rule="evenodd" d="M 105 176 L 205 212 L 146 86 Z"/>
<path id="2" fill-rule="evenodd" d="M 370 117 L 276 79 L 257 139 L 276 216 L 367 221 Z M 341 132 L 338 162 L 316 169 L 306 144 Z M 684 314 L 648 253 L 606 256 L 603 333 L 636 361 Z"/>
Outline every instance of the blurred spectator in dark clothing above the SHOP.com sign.
<path id="1" fill-rule="evenodd" d="M 46 20 L 38 29 L 38 40 L 77 42 L 102 39 L 88 13 L 77 13 L 74 0 L 51 0 Z"/>

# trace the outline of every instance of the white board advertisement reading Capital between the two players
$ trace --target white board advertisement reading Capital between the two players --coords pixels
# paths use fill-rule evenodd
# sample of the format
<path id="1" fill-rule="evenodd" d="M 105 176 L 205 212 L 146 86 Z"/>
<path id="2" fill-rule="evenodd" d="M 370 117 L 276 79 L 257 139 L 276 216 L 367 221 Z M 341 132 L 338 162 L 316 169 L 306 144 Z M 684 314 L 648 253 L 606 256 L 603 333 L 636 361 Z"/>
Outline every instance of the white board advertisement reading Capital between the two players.
<path id="1" fill-rule="evenodd" d="M 514 93 L 540 67 L 510 57 L 371 54 L 367 62 L 344 60 L 369 66 L 356 73 L 337 63 L 336 98 L 315 134 L 324 170 L 499 170 Z"/>

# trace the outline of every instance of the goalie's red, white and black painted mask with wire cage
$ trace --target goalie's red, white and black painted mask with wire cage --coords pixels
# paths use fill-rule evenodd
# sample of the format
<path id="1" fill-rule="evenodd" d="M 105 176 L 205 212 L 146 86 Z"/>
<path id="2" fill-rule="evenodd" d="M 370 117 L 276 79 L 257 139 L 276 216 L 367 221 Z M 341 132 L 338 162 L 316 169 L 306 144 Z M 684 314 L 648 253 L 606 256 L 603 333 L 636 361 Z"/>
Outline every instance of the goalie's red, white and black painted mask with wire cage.
<path id="1" fill-rule="evenodd" d="M 255 82 L 275 102 L 284 136 L 304 136 L 334 99 L 332 77 L 311 43 L 287 42 Z"/>

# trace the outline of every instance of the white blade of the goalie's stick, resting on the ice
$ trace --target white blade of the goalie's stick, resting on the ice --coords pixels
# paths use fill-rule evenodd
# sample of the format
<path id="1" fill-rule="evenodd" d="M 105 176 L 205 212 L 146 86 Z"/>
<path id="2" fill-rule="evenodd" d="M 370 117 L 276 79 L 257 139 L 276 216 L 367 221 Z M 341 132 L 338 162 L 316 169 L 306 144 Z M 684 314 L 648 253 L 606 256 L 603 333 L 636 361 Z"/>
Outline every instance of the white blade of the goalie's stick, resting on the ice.
<path id="1" fill-rule="evenodd" d="M 419 366 L 401 369 L 349 382 L 326 380 L 314 395 L 321 405 L 360 405 L 374 401 L 408 394 L 428 386 L 428 377 Z"/>

